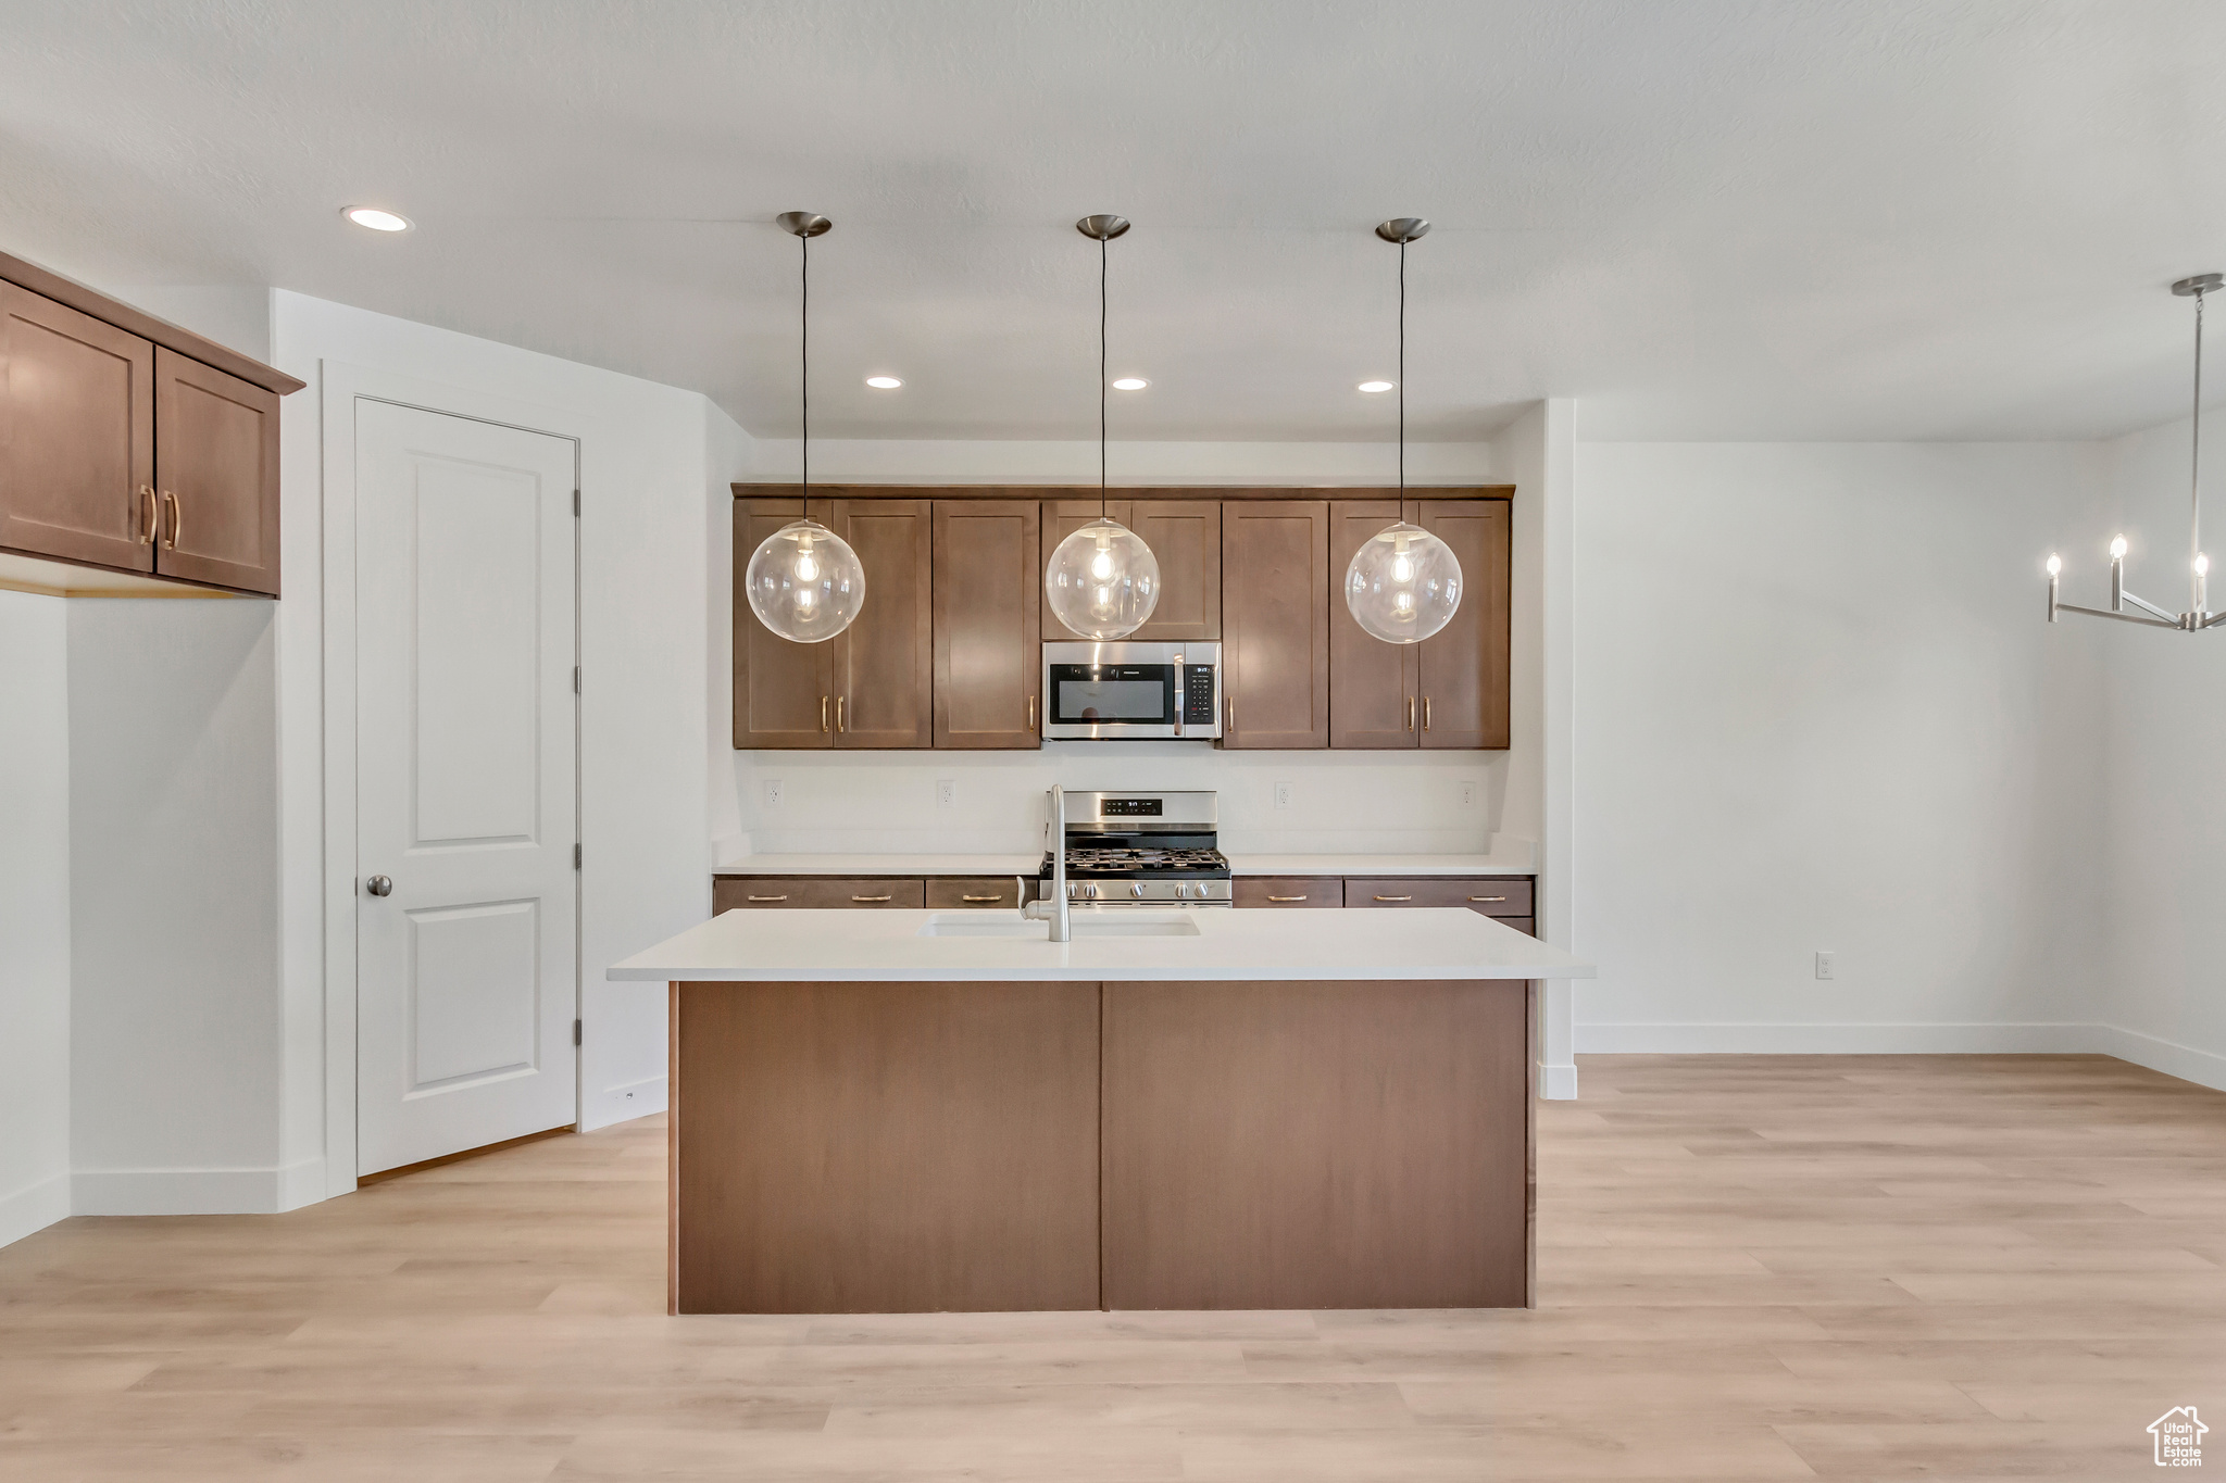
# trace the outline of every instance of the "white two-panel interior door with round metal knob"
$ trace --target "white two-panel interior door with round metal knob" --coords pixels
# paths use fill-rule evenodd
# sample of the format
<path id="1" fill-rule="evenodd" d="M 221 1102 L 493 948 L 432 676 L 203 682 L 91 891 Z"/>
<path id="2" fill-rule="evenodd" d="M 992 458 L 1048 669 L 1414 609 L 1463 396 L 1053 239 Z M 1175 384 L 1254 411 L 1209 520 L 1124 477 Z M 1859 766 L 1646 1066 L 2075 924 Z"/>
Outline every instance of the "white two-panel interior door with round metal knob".
<path id="1" fill-rule="evenodd" d="M 577 445 L 354 407 L 356 1170 L 376 1174 L 579 1116 Z"/>

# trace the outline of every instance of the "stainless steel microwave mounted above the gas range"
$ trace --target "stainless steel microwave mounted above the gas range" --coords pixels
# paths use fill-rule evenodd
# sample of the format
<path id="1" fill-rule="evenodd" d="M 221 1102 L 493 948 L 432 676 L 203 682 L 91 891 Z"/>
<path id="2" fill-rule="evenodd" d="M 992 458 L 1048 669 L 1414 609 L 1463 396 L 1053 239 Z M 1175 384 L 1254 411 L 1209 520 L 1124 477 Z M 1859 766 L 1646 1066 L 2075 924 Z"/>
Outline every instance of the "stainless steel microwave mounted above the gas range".
<path id="1" fill-rule="evenodd" d="M 1218 643 L 1046 643 L 1044 740 L 1222 734 Z"/>

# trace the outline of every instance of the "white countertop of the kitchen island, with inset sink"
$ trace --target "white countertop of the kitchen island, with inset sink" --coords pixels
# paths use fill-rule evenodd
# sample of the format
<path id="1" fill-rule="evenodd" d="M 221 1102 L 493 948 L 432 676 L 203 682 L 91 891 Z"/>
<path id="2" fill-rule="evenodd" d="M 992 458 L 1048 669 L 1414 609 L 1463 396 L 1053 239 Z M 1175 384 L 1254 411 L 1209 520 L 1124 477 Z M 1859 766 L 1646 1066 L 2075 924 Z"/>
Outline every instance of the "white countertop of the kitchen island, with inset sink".
<path id="1" fill-rule="evenodd" d="M 1198 936 L 1071 943 L 919 936 L 937 916 L 1015 920 L 1013 912 L 726 912 L 614 965 L 617 981 L 937 983 L 1209 978 L 1592 978 L 1589 963 L 1467 907 L 1407 912 L 1111 907 L 1100 920 L 1182 916 Z"/>

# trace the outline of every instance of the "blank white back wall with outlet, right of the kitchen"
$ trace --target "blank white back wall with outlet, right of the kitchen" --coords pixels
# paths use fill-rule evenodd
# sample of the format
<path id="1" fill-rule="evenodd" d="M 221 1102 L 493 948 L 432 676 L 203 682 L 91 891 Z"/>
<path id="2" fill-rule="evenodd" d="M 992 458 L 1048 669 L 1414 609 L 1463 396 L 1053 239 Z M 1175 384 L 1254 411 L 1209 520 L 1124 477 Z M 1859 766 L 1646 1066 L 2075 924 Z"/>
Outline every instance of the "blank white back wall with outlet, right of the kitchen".
<path id="1" fill-rule="evenodd" d="M 2104 636 L 2043 623 L 2039 563 L 2106 478 L 1578 445 L 1580 1052 L 2090 1045 Z"/>

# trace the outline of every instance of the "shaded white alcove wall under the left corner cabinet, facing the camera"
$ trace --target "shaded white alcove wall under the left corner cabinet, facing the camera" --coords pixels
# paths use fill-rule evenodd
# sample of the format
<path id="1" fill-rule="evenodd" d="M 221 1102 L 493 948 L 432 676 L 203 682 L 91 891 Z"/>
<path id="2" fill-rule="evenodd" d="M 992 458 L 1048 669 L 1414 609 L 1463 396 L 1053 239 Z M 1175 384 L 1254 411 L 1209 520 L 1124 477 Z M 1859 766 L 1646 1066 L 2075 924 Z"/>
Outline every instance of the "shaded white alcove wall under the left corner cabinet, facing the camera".
<path id="1" fill-rule="evenodd" d="M 274 623 L 254 598 L 69 603 L 78 1214 L 287 1203 Z"/>

